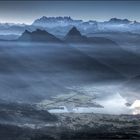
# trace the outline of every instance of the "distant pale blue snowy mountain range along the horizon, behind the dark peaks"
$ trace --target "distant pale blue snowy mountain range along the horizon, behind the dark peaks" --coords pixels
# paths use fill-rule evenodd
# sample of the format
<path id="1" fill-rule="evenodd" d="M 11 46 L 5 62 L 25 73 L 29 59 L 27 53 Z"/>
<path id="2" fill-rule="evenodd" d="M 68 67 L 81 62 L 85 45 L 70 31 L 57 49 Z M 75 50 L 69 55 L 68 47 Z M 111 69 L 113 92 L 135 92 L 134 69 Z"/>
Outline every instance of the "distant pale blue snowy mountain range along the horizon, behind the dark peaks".
<path id="1" fill-rule="evenodd" d="M 57 36 L 64 36 L 73 26 L 81 33 L 97 32 L 132 32 L 140 33 L 140 23 L 128 19 L 112 18 L 109 21 L 98 22 L 94 20 L 74 20 L 71 17 L 41 17 L 31 25 L 0 23 L 0 35 L 21 35 L 25 30 L 47 30 Z"/>

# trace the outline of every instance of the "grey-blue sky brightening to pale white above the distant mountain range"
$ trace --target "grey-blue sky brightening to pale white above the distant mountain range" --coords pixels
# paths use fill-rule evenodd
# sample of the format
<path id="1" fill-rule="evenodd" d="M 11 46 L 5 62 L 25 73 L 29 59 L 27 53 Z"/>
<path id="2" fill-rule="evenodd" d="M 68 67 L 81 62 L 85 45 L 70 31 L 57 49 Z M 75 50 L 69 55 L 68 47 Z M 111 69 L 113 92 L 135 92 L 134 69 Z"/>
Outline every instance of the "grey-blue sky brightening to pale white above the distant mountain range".
<path id="1" fill-rule="evenodd" d="M 140 21 L 139 1 L 0 1 L 0 22 L 31 24 L 42 16 L 105 21 L 112 17 Z"/>

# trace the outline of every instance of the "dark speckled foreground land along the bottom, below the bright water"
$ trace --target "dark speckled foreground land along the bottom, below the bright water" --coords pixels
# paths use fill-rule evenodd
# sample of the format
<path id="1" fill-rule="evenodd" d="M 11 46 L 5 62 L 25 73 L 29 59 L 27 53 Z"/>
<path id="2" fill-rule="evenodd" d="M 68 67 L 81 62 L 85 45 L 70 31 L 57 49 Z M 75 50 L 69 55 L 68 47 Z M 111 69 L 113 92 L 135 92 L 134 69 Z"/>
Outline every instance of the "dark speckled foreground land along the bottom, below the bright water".
<path id="1" fill-rule="evenodd" d="M 56 114 L 58 123 L 42 128 L 0 125 L 2 140 L 139 139 L 139 115 Z"/>

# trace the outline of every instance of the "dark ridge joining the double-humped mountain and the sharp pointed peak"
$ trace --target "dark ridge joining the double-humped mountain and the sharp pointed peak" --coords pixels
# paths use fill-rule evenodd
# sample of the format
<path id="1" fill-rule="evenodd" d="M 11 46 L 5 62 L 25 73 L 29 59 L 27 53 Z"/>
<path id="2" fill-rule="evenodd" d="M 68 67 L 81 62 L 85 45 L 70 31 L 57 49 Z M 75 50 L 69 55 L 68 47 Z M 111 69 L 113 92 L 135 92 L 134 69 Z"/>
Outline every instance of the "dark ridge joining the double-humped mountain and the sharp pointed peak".
<path id="1" fill-rule="evenodd" d="M 56 36 L 48 33 L 45 30 L 37 29 L 30 32 L 25 30 L 24 33 L 18 38 L 18 41 L 30 42 L 47 42 L 47 43 L 78 43 L 78 44 L 115 44 L 110 39 L 104 37 L 87 37 L 80 33 L 76 27 L 72 27 L 63 40 L 58 39 Z"/>

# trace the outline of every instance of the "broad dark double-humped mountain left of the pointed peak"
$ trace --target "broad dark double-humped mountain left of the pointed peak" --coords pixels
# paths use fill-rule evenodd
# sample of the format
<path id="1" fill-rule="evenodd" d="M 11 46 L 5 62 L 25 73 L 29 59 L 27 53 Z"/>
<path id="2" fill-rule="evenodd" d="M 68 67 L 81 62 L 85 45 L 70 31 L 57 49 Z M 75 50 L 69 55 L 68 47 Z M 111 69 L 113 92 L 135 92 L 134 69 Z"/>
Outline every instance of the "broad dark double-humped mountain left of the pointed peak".
<path id="1" fill-rule="evenodd" d="M 52 42 L 52 43 L 61 42 L 61 40 L 56 38 L 54 35 L 48 33 L 45 30 L 40 29 L 37 29 L 36 31 L 33 32 L 25 30 L 24 33 L 18 38 L 18 41 Z"/>

